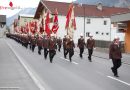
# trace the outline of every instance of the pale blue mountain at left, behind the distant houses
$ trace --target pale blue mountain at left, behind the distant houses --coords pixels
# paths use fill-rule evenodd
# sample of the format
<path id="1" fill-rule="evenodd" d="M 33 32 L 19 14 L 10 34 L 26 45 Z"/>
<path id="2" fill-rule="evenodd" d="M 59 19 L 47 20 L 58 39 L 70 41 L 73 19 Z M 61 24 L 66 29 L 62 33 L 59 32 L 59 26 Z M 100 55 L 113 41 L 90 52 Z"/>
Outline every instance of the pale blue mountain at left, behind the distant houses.
<path id="1" fill-rule="evenodd" d="M 15 15 L 13 15 L 12 17 L 7 18 L 7 26 L 10 26 L 14 19 L 18 18 L 19 14 L 29 14 L 29 15 L 34 15 L 36 12 L 36 8 L 24 8 L 21 11 L 19 11 L 18 13 L 16 13 Z"/>

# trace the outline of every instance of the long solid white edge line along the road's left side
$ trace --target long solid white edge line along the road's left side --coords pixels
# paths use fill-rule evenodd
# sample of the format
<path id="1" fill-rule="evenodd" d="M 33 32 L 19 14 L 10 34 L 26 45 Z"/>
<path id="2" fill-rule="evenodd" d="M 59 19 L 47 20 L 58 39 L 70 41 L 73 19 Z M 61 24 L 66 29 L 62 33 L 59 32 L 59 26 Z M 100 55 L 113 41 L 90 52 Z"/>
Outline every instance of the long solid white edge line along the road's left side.
<path id="1" fill-rule="evenodd" d="M 40 77 L 31 69 L 31 67 L 29 67 L 29 65 L 27 63 L 25 63 L 25 61 L 23 61 L 23 59 L 15 52 L 15 50 L 12 48 L 12 46 L 7 41 L 6 41 L 6 43 L 10 47 L 10 49 L 13 51 L 13 53 L 16 55 L 16 57 L 18 58 L 20 63 L 23 65 L 25 70 L 28 72 L 28 74 L 30 75 L 30 77 L 32 78 L 34 83 L 37 85 L 37 87 L 40 90 L 45 90 L 45 88 L 43 86 L 43 82 L 41 81 Z"/>

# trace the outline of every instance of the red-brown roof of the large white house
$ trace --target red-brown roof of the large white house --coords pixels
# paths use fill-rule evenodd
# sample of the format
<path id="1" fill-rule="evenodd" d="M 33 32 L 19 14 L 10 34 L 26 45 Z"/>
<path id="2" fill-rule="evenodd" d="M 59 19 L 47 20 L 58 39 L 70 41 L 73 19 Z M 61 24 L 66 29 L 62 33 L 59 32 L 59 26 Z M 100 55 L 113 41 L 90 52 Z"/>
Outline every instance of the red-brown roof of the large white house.
<path id="1" fill-rule="evenodd" d="M 55 9 L 57 8 L 58 14 L 66 16 L 69 5 L 70 3 L 41 0 L 37 7 L 34 18 L 38 19 L 44 8 L 49 9 L 52 14 L 54 14 Z M 113 14 L 130 12 L 130 9 L 128 8 L 102 6 L 102 10 L 99 10 L 97 9 L 97 5 L 74 4 L 74 6 L 75 16 L 110 17 Z"/>

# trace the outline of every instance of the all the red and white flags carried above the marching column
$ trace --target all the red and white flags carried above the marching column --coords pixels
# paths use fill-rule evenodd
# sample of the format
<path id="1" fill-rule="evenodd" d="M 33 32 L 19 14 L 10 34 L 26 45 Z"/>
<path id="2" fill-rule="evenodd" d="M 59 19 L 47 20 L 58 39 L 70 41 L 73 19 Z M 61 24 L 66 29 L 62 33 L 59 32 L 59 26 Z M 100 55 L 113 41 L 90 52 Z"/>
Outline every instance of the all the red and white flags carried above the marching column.
<path id="1" fill-rule="evenodd" d="M 45 14 L 45 13 L 44 13 Z M 53 17 L 53 25 L 50 28 L 50 11 L 46 12 L 46 16 L 43 15 L 39 21 L 27 22 L 24 27 L 20 27 L 20 29 L 16 30 L 16 32 L 25 33 L 25 34 L 43 34 L 46 33 L 48 36 L 54 33 L 56 34 L 59 29 L 58 23 L 58 11 L 55 9 L 54 17 Z M 14 25 L 15 26 L 15 25 Z M 66 16 L 66 25 L 65 29 L 67 30 L 67 35 L 73 38 L 74 30 L 76 30 L 76 22 L 74 16 L 74 5 L 70 4 L 69 10 Z"/>

